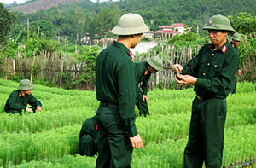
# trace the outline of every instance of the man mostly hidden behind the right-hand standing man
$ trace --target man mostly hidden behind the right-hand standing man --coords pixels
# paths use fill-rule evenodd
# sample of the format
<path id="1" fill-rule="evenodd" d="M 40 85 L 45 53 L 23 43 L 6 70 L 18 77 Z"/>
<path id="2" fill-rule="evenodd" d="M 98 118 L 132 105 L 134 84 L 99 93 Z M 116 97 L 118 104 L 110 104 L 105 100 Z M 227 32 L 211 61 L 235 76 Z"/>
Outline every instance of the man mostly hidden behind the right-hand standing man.
<path id="1" fill-rule="evenodd" d="M 234 47 L 236 49 L 236 51 L 238 52 L 237 46 L 239 45 L 239 43 L 242 41 L 241 39 L 241 34 L 239 34 L 238 32 L 236 32 L 235 34 L 233 34 L 233 36 L 231 37 L 232 41 L 230 42 L 230 44 L 232 45 L 232 47 Z M 238 52 L 239 54 L 239 52 Z M 231 86 L 231 93 L 235 94 L 236 93 L 236 82 L 237 82 L 237 74 L 240 76 L 241 75 L 241 69 L 238 69 L 238 71 L 235 74 L 235 80 L 234 83 Z"/>

